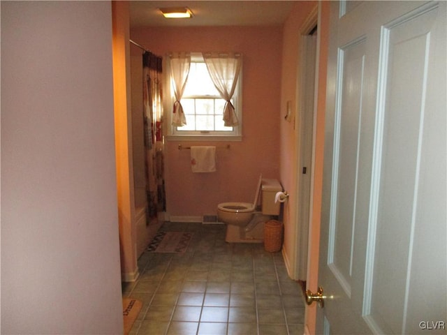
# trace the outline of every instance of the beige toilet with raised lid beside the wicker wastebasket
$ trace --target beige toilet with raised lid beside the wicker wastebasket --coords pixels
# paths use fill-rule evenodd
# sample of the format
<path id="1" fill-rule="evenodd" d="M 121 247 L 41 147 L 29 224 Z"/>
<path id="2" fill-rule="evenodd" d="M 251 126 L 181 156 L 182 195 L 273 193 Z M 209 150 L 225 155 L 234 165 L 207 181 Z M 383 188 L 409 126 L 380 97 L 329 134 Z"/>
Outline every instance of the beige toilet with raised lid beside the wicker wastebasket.
<path id="1" fill-rule="evenodd" d="M 278 216 L 279 202 L 274 202 L 282 186 L 277 179 L 259 177 L 254 202 L 222 202 L 217 206 L 219 221 L 226 224 L 225 241 L 230 243 L 262 243 L 264 223 Z M 261 193 L 261 207 L 258 200 Z"/>

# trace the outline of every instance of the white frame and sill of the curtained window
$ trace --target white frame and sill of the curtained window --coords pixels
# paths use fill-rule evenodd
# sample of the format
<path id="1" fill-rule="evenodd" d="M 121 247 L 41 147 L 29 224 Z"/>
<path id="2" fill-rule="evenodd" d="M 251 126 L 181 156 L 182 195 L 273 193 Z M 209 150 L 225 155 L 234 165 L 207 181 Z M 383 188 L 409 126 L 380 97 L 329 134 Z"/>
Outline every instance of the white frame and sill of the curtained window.
<path id="1" fill-rule="evenodd" d="M 191 63 L 205 63 L 201 52 L 191 52 Z M 164 99 L 164 114 L 167 121 L 166 140 L 186 140 L 186 141 L 242 141 L 242 67 L 235 94 L 232 101 L 239 124 L 233 127 L 233 131 L 178 131 L 176 126 L 172 125 L 172 112 L 175 97 L 171 88 L 171 79 L 169 71 L 166 71 L 165 88 L 167 98 Z M 182 97 L 186 98 L 186 97 Z M 188 98 L 217 98 L 217 96 L 188 96 Z M 220 96 L 219 96 L 220 98 Z M 223 117 L 223 110 L 222 110 Z"/>

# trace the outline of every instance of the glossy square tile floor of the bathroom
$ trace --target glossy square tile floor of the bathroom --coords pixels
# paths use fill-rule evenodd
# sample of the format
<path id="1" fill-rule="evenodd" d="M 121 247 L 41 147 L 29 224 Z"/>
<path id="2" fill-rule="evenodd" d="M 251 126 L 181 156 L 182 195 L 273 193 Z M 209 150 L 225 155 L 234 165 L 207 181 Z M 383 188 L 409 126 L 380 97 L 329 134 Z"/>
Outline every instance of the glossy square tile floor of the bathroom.
<path id="1" fill-rule="evenodd" d="M 281 253 L 263 244 L 227 244 L 225 226 L 164 223 L 189 231 L 186 253 L 145 252 L 140 277 L 123 295 L 143 301 L 135 335 L 303 334 L 304 301 Z"/>

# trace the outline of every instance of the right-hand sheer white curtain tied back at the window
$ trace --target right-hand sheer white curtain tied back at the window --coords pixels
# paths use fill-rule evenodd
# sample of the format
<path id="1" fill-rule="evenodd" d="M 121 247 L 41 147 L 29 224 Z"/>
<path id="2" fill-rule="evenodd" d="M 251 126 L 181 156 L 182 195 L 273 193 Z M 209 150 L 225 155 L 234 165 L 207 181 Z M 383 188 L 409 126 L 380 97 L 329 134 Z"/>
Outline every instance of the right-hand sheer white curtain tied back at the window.
<path id="1" fill-rule="evenodd" d="M 226 101 L 225 107 L 223 107 L 223 122 L 225 126 L 237 126 L 239 121 L 237 120 L 235 107 L 230 100 L 235 93 L 237 79 L 242 67 L 242 57 L 234 53 L 203 53 L 203 59 L 214 86 Z"/>

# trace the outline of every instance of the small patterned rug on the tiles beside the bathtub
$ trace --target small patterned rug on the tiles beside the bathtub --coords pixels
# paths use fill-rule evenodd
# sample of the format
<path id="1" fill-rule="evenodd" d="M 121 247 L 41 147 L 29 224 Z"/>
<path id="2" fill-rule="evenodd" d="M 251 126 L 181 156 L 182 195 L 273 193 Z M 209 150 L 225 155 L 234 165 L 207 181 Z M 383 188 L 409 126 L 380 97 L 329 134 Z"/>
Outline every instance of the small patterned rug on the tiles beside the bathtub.
<path id="1" fill-rule="evenodd" d="M 192 232 L 157 232 L 146 251 L 149 253 L 184 253 L 193 237 Z"/>

